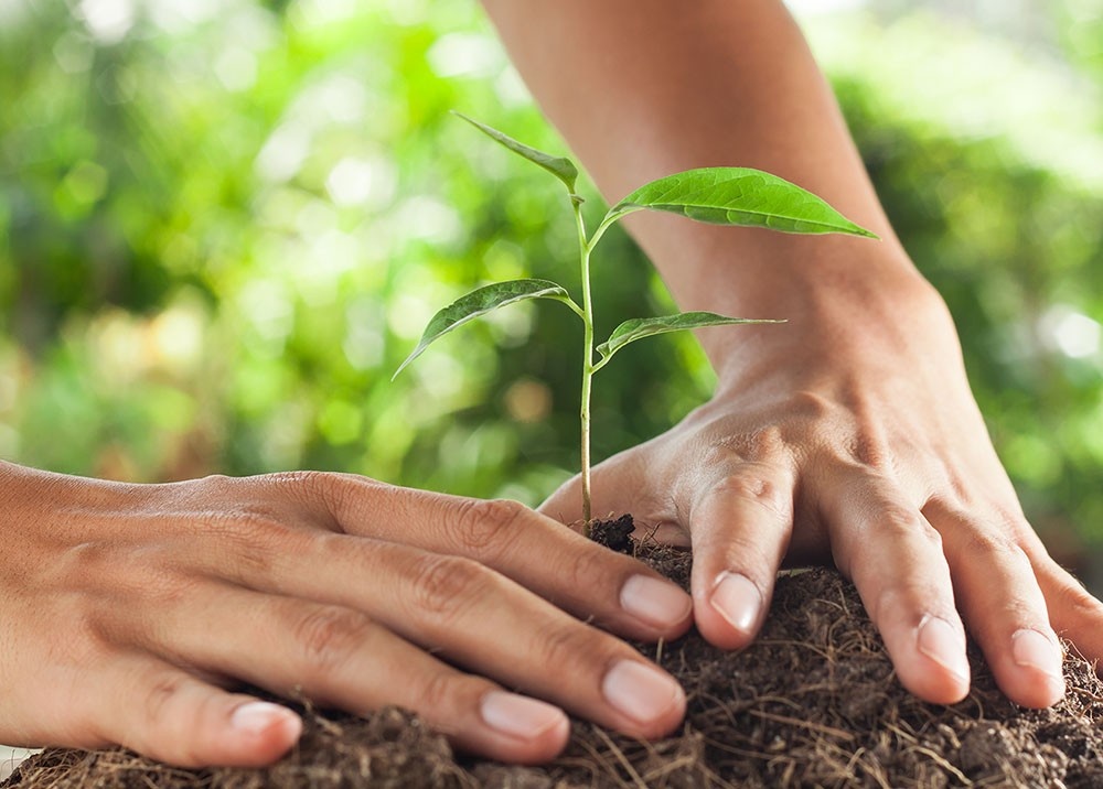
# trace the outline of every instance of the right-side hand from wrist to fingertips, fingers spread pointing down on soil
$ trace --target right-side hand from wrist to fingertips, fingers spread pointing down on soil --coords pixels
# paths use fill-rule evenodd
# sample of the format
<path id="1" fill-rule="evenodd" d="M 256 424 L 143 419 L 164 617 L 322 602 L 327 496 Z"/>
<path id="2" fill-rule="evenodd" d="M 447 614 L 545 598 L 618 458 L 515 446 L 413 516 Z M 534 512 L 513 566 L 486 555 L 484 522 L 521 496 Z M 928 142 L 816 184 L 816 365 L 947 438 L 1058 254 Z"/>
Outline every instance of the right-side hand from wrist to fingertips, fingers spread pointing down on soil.
<path id="1" fill-rule="evenodd" d="M 1054 630 L 1103 657 L 1103 605 L 1025 519 L 941 300 L 895 303 L 730 329 L 716 397 L 597 466 L 593 512 L 692 545 L 697 626 L 720 647 L 753 638 L 780 565 L 834 561 L 920 698 L 967 693 L 967 628 L 1008 698 L 1053 704 Z M 571 520 L 579 498 L 575 479 L 540 509 Z"/>

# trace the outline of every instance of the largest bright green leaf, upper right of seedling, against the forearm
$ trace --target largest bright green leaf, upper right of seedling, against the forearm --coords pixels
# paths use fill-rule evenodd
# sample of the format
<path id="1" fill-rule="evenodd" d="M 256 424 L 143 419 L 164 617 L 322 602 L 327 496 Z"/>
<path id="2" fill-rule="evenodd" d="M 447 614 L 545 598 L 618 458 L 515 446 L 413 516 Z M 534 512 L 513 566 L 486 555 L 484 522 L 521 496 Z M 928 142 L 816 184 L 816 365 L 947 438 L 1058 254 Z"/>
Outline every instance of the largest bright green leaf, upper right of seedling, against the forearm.
<path id="1" fill-rule="evenodd" d="M 714 225 L 877 238 L 811 192 L 749 167 L 703 167 L 652 181 L 610 208 L 602 224 L 643 208 L 682 214 Z"/>

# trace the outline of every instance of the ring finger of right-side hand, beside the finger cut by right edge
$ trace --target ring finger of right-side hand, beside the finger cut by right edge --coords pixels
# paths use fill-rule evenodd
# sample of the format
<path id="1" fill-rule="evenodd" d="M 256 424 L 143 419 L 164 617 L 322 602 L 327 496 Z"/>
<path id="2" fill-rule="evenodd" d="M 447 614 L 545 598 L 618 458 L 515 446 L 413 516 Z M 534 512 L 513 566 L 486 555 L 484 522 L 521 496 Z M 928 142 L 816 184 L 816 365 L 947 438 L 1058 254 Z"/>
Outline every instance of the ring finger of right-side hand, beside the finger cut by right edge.
<path id="1" fill-rule="evenodd" d="M 1063 652 L 1026 552 L 1011 534 L 1025 523 L 985 523 L 939 502 L 929 518 L 943 533 L 957 601 L 1008 699 L 1043 707 L 1064 695 Z"/>

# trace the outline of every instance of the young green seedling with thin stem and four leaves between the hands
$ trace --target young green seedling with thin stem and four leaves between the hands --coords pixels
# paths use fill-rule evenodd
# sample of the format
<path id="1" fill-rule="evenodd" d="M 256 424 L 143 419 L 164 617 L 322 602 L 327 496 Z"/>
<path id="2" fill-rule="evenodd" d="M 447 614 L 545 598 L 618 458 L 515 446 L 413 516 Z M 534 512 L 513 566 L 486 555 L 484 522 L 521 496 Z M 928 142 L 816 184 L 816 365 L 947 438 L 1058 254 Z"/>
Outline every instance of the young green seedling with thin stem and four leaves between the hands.
<path id="1" fill-rule="evenodd" d="M 581 304 L 571 299 L 567 289 L 549 280 L 523 279 L 479 288 L 438 312 L 429 321 L 421 341 L 395 371 L 420 356 L 430 343 L 486 313 L 527 299 L 552 299 L 563 302 L 582 321 L 581 418 L 581 483 L 583 531 L 591 523 L 590 505 L 590 390 L 593 375 L 609 364 L 618 350 L 629 343 L 656 334 L 681 332 L 705 326 L 741 323 L 783 323 L 783 321 L 729 317 L 711 312 L 684 312 L 661 317 L 634 317 L 613 329 L 606 342 L 593 345 L 593 301 L 590 294 L 590 256 L 613 223 L 638 210 L 662 210 L 681 214 L 697 221 L 714 225 L 761 227 L 800 234 L 844 233 L 877 238 L 855 225 L 826 202 L 775 175 L 749 167 L 702 167 L 674 173 L 644 184 L 611 207 L 587 236 L 582 220 L 582 197 L 575 192 L 578 169 L 563 156 L 537 151 L 517 142 L 496 129 L 457 112 L 460 118 L 537 166 L 547 170 L 567 187 L 570 207 L 578 227 L 579 274 Z M 595 358 L 597 350 L 598 358 Z M 394 378 L 392 378 L 394 380 Z"/>

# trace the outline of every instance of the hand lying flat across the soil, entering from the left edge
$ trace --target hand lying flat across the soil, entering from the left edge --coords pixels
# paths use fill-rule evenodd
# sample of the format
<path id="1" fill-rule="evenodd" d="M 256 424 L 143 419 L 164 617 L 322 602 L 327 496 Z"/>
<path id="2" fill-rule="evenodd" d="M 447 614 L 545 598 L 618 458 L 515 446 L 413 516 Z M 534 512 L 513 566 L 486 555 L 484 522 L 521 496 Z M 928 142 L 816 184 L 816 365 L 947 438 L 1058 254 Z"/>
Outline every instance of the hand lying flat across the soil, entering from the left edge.
<path id="1" fill-rule="evenodd" d="M 641 737 L 684 714 L 671 677 L 576 617 L 672 638 L 688 596 L 515 502 L 352 475 L 139 486 L 11 464 L 0 491 L 0 742 L 267 764 L 301 721 L 229 690 L 243 680 L 400 705 L 506 761 L 564 747 L 559 707 Z"/>

